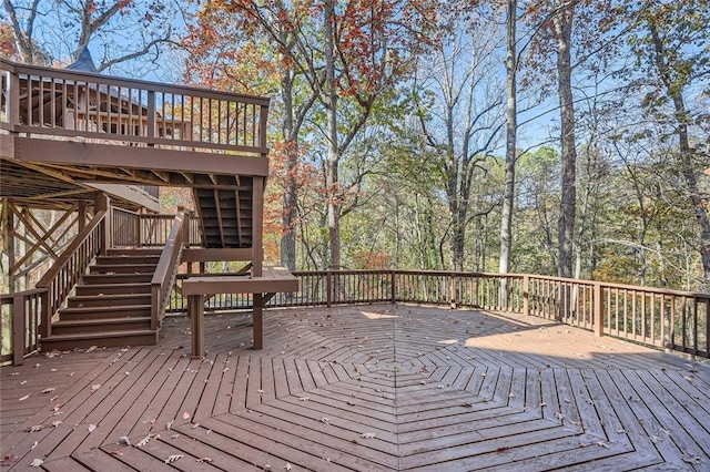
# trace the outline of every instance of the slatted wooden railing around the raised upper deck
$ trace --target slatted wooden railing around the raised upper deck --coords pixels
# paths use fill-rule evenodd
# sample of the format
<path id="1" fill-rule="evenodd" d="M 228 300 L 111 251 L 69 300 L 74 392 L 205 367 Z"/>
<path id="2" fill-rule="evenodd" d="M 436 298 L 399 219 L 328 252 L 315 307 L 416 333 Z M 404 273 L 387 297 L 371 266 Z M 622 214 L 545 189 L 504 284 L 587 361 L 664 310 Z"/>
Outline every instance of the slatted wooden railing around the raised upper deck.
<path id="1" fill-rule="evenodd" d="M 181 151 L 267 152 L 268 99 L 2 59 L 0 75 L 0 127 L 13 133 Z"/>

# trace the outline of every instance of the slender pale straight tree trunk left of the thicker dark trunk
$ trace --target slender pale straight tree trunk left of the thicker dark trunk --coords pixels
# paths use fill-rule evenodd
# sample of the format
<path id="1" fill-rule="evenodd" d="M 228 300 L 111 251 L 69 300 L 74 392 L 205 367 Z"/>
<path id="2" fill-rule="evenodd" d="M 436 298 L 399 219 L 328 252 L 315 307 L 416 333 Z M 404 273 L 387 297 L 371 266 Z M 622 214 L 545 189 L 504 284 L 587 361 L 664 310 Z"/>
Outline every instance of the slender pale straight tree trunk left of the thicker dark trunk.
<path id="1" fill-rule="evenodd" d="M 515 201 L 515 160 L 517 141 L 517 90 L 516 90 L 516 13 L 517 0 L 508 0 L 508 29 L 506 57 L 506 182 L 500 218 L 500 261 L 498 270 L 506 274 L 510 268 L 513 248 L 513 205 Z"/>

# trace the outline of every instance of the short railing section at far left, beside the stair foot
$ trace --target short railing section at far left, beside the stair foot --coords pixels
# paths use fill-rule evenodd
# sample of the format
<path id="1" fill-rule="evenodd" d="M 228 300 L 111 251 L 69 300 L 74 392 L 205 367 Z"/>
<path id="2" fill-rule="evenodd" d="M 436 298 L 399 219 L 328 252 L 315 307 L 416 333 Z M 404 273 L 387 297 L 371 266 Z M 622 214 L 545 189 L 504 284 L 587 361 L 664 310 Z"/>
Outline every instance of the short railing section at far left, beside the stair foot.
<path id="1" fill-rule="evenodd" d="M 39 348 L 39 325 L 42 316 L 42 296 L 47 289 L 0 295 L 0 362 L 14 366 L 22 363 L 24 356 Z"/>

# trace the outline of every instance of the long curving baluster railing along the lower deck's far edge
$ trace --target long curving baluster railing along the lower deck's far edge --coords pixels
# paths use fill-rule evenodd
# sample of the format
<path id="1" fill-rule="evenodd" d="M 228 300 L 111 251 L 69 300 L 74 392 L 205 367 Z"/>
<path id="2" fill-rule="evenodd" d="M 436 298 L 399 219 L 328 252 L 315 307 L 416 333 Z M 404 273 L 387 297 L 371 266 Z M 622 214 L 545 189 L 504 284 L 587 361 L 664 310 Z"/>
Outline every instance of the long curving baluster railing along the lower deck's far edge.
<path id="1" fill-rule="evenodd" d="M 419 270 L 294 271 L 298 291 L 268 307 L 413 302 L 516 312 L 658 348 L 710 358 L 710 294 L 526 274 Z M 171 310 L 184 311 L 181 277 Z M 248 294 L 223 294 L 206 310 L 250 309 Z"/>

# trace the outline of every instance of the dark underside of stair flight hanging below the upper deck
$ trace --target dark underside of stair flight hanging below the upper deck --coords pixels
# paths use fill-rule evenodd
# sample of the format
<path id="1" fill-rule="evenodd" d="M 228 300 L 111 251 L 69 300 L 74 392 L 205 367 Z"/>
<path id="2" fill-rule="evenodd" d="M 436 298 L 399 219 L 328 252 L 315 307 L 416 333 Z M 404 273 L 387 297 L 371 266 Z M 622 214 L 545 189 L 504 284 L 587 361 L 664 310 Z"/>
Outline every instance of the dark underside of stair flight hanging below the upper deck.
<path id="1" fill-rule="evenodd" d="M 194 188 L 206 248 L 252 247 L 252 179 L 233 188 Z"/>

